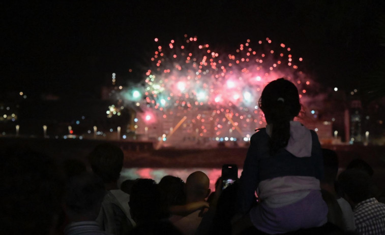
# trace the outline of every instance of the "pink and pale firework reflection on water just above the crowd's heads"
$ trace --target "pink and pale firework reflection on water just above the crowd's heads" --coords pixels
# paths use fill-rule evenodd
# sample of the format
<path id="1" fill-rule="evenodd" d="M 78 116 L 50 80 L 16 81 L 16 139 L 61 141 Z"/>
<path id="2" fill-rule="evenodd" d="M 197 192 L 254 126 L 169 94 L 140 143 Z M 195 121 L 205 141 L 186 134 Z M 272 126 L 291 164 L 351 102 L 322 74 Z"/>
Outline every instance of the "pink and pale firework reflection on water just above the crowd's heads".
<path id="1" fill-rule="evenodd" d="M 186 182 L 187 177 L 196 171 L 204 172 L 210 179 L 210 189 L 215 191 L 215 182 L 221 176 L 222 170 L 220 168 L 124 168 L 121 172 L 119 184 L 123 181 L 137 178 L 153 179 L 157 183 L 163 176 L 171 175 L 181 178 Z M 242 169 L 238 169 L 238 177 L 241 176 Z"/>

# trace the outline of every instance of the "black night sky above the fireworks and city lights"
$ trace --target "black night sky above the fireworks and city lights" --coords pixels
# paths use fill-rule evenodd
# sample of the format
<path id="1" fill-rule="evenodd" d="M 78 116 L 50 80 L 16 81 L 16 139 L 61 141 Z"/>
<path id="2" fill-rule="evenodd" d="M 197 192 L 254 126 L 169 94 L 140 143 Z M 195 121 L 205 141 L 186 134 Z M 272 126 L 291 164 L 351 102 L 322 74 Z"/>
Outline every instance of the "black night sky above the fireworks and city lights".
<path id="1" fill-rule="evenodd" d="M 2 93 L 97 97 L 111 73 L 141 80 L 154 38 L 185 33 L 214 48 L 266 37 L 285 43 L 325 87 L 370 89 L 383 71 L 383 1 L 7 2 Z"/>

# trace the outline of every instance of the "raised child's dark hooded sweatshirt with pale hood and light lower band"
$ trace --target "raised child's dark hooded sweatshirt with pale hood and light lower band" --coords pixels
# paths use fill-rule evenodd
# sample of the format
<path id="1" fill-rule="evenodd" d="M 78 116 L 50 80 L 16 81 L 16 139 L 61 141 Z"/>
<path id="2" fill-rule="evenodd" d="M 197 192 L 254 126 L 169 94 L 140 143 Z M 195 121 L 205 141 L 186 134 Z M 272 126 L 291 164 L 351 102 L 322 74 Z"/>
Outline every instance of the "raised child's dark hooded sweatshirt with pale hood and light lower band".
<path id="1" fill-rule="evenodd" d="M 241 213 L 251 209 L 255 190 L 260 202 L 270 208 L 296 203 L 312 190 L 320 190 L 323 162 L 316 133 L 291 121 L 288 145 L 274 155 L 270 155 L 270 135 L 268 125 L 251 137 L 238 194 Z"/>

